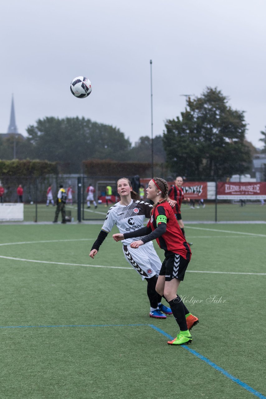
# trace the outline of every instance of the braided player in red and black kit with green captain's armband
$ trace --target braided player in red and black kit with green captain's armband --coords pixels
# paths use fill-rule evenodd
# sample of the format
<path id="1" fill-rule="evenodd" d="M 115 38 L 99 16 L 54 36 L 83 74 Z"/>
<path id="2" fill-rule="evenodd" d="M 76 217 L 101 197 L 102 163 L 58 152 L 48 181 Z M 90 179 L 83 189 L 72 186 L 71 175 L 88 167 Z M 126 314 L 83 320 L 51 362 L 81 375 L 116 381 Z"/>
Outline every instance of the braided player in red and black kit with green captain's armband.
<path id="1" fill-rule="evenodd" d="M 164 179 L 154 178 L 150 180 L 146 192 L 147 199 L 154 202 L 150 221 L 146 227 L 138 230 L 138 235 L 145 235 L 145 237 L 132 242 L 130 247 L 140 248 L 141 245 L 147 245 L 149 241 L 156 239 L 159 247 L 164 249 L 165 259 L 156 284 L 156 291 L 166 298 L 180 328 L 177 337 L 168 341 L 167 344 L 189 344 L 192 341 L 189 330 L 199 322 L 199 319 L 187 310 L 177 295 L 177 288 L 180 281 L 184 279 L 187 265 L 191 259 L 190 247 L 167 202 L 167 182 Z M 114 234 L 113 238 L 115 241 L 120 241 L 134 236 L 136 237 L 136 233 L 130 232 Z"/>

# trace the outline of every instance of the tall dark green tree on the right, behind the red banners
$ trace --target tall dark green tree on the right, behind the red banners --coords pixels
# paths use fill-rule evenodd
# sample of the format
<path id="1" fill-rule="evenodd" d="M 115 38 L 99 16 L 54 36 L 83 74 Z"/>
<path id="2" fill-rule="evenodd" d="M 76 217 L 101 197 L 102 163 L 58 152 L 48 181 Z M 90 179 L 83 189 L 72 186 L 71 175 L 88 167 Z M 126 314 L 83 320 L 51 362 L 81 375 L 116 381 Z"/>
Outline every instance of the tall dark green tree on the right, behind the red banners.
<path id="1" fill-rule="evenodd" d="M 244 111 L 233 110 L 217 88 L 187 99 L 176 120 L 166 121 L 163 142 L 171 172 L 189 178 L 223 178 L 243 174 L 251 164 L 244 143 Z"/>

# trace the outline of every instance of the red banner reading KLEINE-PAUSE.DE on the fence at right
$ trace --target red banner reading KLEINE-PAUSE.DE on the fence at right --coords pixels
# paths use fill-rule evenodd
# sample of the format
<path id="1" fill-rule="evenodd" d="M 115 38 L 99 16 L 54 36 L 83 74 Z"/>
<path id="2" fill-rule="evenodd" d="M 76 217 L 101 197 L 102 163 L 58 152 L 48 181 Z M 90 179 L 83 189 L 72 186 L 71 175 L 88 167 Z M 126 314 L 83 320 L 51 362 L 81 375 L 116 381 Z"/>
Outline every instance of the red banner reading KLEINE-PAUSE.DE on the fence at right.
<path id="1" fill-rule="evenodd" d="M 218 199 L 266 199 L 266 182 L 218 182 Z"/>

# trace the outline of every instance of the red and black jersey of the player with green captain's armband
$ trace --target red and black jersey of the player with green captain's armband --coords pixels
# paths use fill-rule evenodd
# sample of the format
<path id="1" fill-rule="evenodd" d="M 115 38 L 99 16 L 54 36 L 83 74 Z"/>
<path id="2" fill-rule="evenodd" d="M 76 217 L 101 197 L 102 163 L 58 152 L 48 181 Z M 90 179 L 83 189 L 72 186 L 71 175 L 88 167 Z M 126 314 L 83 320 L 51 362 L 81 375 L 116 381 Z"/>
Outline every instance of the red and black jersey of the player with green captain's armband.
<path id="1" fill-rule="evenodd" d="M 150 229 L 154 231 L 157 227 L 157 223 L 162 223 L 160 222 L 160 217 L 158 218 L 158 216 L 160 215 L 166 217 L 166 232 L 160 237 L 156 238 L 159 247 L 164 249 L 165 251 L 178 253 L 179 255 L 181 255 L 181 257 L 190 261 L 190 247 L 185 240 L 185 237 L 183 236 L 179 224 L 177 223 L 175 214 L 173 213 L 173 209 L 167 201 L 163 203 L 158 203 L 158 205 L 156 205 L 156 207 L 152 210 L 152 215 L 147 224 L 147 227 L 150 227 Z M 161 219 L 165 219 L 165 217 Z"/>

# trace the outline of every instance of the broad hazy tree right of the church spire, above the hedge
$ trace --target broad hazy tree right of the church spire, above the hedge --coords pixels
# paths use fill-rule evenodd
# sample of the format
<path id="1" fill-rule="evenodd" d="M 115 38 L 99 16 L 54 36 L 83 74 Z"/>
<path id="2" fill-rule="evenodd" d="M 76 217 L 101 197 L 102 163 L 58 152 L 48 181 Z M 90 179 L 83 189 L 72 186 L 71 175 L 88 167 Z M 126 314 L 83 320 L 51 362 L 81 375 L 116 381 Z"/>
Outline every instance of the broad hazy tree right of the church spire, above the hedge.
<path id="1" fill-rule="evenodd" d="M 67 163 L 69 172 L 80 172 L 87 159 L 126 160 L 131 148 L 119 129 L 85 118 L 46 117 L 27 132 L 33 159 Z"/>

